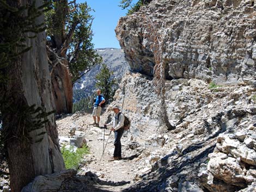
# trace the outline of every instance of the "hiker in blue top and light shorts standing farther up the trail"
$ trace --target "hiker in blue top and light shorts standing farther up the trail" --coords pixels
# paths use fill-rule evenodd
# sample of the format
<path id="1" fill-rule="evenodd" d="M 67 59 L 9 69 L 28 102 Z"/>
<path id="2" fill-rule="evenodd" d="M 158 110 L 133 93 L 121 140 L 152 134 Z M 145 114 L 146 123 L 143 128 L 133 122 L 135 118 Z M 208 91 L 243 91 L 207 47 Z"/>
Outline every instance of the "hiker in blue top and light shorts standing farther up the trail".
<path id="1" fill-rule="evenodd" d="M 101 113 L 101 105 L 105 103 L 105 98 L 101 95 L 101 90 L 97 90 L 97 96 L 94 102 L 94 108 L 93 108 L 93 120 L 94 123 L 92 123 L 91 125 L 93 125 L 94 127 L 99 127 L 99 123 L 100 123 L 100 113 Z M 97 117 L 97 122 L 96 122 L 96 117 Z"/>

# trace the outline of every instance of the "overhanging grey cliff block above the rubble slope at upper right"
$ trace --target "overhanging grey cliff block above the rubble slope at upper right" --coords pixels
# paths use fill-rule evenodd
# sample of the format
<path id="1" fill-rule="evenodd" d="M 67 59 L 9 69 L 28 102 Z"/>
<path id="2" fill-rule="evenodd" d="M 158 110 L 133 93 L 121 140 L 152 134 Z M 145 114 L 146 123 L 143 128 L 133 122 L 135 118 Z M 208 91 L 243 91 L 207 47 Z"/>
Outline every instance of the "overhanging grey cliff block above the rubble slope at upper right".
<path id="1" fill-rule="evenodd" d="M 134 71 L 153 76 L 154 26 L 167 78 L 255 84 L 255 6 L 251 0 L 152 1 L 121 17 L 115 31 Z"/>

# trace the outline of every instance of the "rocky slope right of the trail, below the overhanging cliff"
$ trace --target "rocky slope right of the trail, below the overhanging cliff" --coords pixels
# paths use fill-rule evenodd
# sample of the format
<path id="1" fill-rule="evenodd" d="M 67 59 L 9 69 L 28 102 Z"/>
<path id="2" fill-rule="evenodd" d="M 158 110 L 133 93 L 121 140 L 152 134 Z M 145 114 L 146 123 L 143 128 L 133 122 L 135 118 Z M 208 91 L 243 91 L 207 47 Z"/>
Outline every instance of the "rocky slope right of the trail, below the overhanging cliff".
<path id="1" fill-rule="evenodd" d="M 115 94 L 132 119 L 130 142 L 143 148 L 141 162 L 152 167 L 125 191 L 255 191 L 256 89 L 209 88 L 205 80 L 183 78 L 166 87 L 173 131 L 159 126 L 150 77 L 130 73 Z"/>

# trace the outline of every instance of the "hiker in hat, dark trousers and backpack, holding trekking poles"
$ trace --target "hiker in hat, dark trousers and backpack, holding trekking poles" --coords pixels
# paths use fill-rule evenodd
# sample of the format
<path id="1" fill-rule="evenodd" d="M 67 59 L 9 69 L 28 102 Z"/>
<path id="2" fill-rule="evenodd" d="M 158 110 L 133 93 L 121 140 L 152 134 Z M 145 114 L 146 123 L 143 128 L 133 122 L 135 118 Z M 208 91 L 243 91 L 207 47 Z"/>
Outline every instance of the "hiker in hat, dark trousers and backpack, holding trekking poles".
<path id="1" fill-rule="evenodd" d="M 111 122 L 109 122 L 106 126 L 111 127 L 111 131 L 115 134 L 114 140 L 114 155 L 112 160 L 120 160 L 121 159 L 121 137 L 124 133 L 124 115 L 120 112 L 120 107 L 118 105 L 114 105 L 112 109 L 115 113 Z"/>

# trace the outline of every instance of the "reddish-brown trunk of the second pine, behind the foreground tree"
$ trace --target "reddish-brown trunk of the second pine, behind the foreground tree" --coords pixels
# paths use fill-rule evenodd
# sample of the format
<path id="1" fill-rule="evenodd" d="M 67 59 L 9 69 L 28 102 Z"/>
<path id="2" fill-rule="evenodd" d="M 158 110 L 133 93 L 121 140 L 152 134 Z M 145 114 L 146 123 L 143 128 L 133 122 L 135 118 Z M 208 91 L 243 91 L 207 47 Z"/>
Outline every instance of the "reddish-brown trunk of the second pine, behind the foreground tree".
<path id="1" fill-rule="evenodd" d="M 56 112 L 58 114 L 72 113 L 72 80 L 71 73 L 69 71 L 69 61 L 66 60 L 66 52 L 68 50 L 69 38 L 67 38 L 65 32 L 65 15 L 68 11 L 68 1 L 59 1 L 56 10 L 56 17 L 53 21 L 56 28 L 58 28 L 59 30 L 54 31 L 53 36 L 55 45 L 50 46 L 52 49 L 56 50 L 54 52 L 56 52 L 58 57 L 63 58 L 53 68 L 51 73 L 53 98 Z M 68 36 L 72 36 L 72 34 L 68 34 Z"/>

